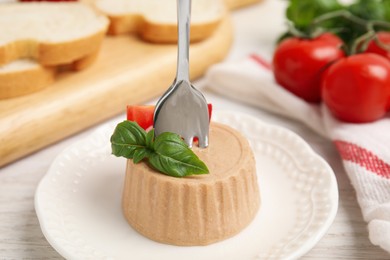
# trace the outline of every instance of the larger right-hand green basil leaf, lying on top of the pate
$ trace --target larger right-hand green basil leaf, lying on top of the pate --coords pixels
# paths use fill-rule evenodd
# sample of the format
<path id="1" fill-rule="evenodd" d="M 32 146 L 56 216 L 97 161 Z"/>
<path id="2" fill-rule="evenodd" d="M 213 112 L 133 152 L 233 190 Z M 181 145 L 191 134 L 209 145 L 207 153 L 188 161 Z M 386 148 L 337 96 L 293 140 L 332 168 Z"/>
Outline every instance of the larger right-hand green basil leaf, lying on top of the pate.
<path id="1" fill-rule="evenodd" d="M 169 132 L 156 137 L 149 163 L 156 170 L 174 177 L 209 173 L 207 166 L 181 137 Z"/>

